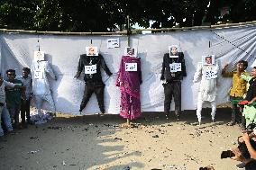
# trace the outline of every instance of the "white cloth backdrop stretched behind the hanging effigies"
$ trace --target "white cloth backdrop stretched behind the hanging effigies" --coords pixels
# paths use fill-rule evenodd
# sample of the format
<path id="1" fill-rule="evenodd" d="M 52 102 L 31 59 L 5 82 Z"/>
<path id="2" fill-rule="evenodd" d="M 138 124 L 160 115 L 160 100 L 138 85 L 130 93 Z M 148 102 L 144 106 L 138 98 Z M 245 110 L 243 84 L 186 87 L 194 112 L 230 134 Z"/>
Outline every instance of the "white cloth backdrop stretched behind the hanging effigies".
<path id="1" fill-rule="evenodd" d="M 160 70 L 164 53 L 169 52 L 168 46 L 178 44 L 186 59 L 187 77 L 182 82 L 182 110 L 197 109 L 198 85 L 193 85 L 193 76 L 196 72 L 197 62 L 202 55 L 215 54 L 215 58 L 223 67 L 231 63 L 232 70 L 240 59 L 249 61 L 249 66 L 254 61 L 256 26 L 246 25 L 232 28 L 160 32 L 154 34 L 135 35 L 131 38 L 131 46 L 138 48 L 138 56 L 142 58 L 142 85 L 141 100 L 142 112 L 163 112 L 164 94 L 160 82 Z M 107 49 L 106 40 L 119 38 L 120 48 Z M 115 86 L 116 74 L 119 68 L 123 50 L 127 46 L 125 36 L 58 36 L 40 35 L 40 47 L 50 61 L 58 81 L 50 79 L 53 99 L 57 112 L 78 114 L 79 104 L 84 92 L 84 81 L 74 79 L 78 67 L 80 54 L 86 53 L 86 46 L 97 46 L 105 58 L 105 62 L 114 73 L 108 79 L 105 72 L 105 111 L 119 113 L 120 92 Z M 32 34 L 2 33 L 0 34 L 0 59 L 1 72 L 14 68 L 21 75 L 22 67 L 31 67 L 33 51 L 38 50 L 38 36 Z M 211 48 L 209 48 L 209 44 Z M 248 71 L 251 71 L 250 68 Z M 228 91 L 231 78 L 218 78 L 217 103 L 228 101 Z M 44 105 L 45 108 L 49 106 Z M 173 110 L 173 103 L 172 103 Z M 99 112 L 96 95 L 93 94 L 83 114 Z"/>

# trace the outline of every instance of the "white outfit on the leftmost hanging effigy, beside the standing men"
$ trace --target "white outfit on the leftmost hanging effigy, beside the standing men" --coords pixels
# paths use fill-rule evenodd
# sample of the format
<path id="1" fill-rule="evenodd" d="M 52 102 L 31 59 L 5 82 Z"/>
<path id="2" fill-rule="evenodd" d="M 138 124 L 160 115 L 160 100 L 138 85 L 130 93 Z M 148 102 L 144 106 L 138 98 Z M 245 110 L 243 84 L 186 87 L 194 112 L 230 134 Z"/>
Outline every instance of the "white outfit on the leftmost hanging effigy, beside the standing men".
<path id="1" fill-rule="evenodd" d="M 43 101 L 50 103 L 50 108 L 55 112 L 55 104 L 50 93 L 50 84 L 47 79 L 47 74 L 53 79 L 56 79 L 48 61 L 32 62 L 32 93 L 38 112 L 41 113 Z"/>

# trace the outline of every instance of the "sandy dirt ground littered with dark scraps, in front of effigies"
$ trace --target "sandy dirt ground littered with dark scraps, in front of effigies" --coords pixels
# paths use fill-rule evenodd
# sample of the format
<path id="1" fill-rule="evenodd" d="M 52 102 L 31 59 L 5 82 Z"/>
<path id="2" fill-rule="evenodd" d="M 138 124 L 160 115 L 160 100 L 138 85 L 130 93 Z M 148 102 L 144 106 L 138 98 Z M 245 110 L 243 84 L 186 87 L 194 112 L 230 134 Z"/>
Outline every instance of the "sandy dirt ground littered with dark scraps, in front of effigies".
<path id="1" fill-rule="evenodd" d="M 143 113 L 133 128 L 120 128 L 118 115 L 63 116 L 42 125 L 17 130 L 0 142 L 1 170 L 233 170 L 239 164 L 221 159 L 223 150 L 237 146 L 238 125 L 226 126 L 230 110 L 218 109 L 215 122 L 204 110 L 196 126 L 196 112 L 183 112 L 180 121 L 163 113 Z"/>

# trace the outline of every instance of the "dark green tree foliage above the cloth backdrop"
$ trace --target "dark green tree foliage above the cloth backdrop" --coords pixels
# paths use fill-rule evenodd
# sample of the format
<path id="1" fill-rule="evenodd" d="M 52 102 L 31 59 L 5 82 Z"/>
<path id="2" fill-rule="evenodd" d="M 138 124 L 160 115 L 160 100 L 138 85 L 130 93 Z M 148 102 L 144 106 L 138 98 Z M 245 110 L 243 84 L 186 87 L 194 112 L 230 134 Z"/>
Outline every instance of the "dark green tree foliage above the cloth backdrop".
<path id="1" fill-rule="evenodd" d="M 113 31 L 130 22 L 148 28 L 246 22 L 255 0 L 1 0 L 0 28 L 38 31 Z M 220 11 L 228 7 L 228 13 Z M 150 23 L 152 25 L 150 25 Z"/>

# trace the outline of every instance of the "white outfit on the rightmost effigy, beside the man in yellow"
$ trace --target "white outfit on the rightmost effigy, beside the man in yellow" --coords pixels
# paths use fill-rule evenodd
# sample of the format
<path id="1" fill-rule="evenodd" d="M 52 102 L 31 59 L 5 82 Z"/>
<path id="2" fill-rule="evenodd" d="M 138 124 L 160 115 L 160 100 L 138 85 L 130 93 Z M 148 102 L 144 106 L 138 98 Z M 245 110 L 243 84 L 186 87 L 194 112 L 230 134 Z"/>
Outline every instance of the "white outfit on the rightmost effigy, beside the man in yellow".
<path id="1" fill-rule="evenodd" d="M 194 75 L 194 83 L 200 81 L 200 88 L 197 99 L 197 119 L 199 124 L 201 123 L 201 112 L 203 103 L 209 102 L 212 107 L 212 121 L 215 120 L 215 112 L 216 112 L 216 94 L 217 94 L 217 74 L 218 74 L 219 66 L 218 63 L 216 65 L 211 66 L 203 66 L 201 62 L 197 64 L 197 71 Z M 210 75 L 210 76 L 209 76 Z"/>

